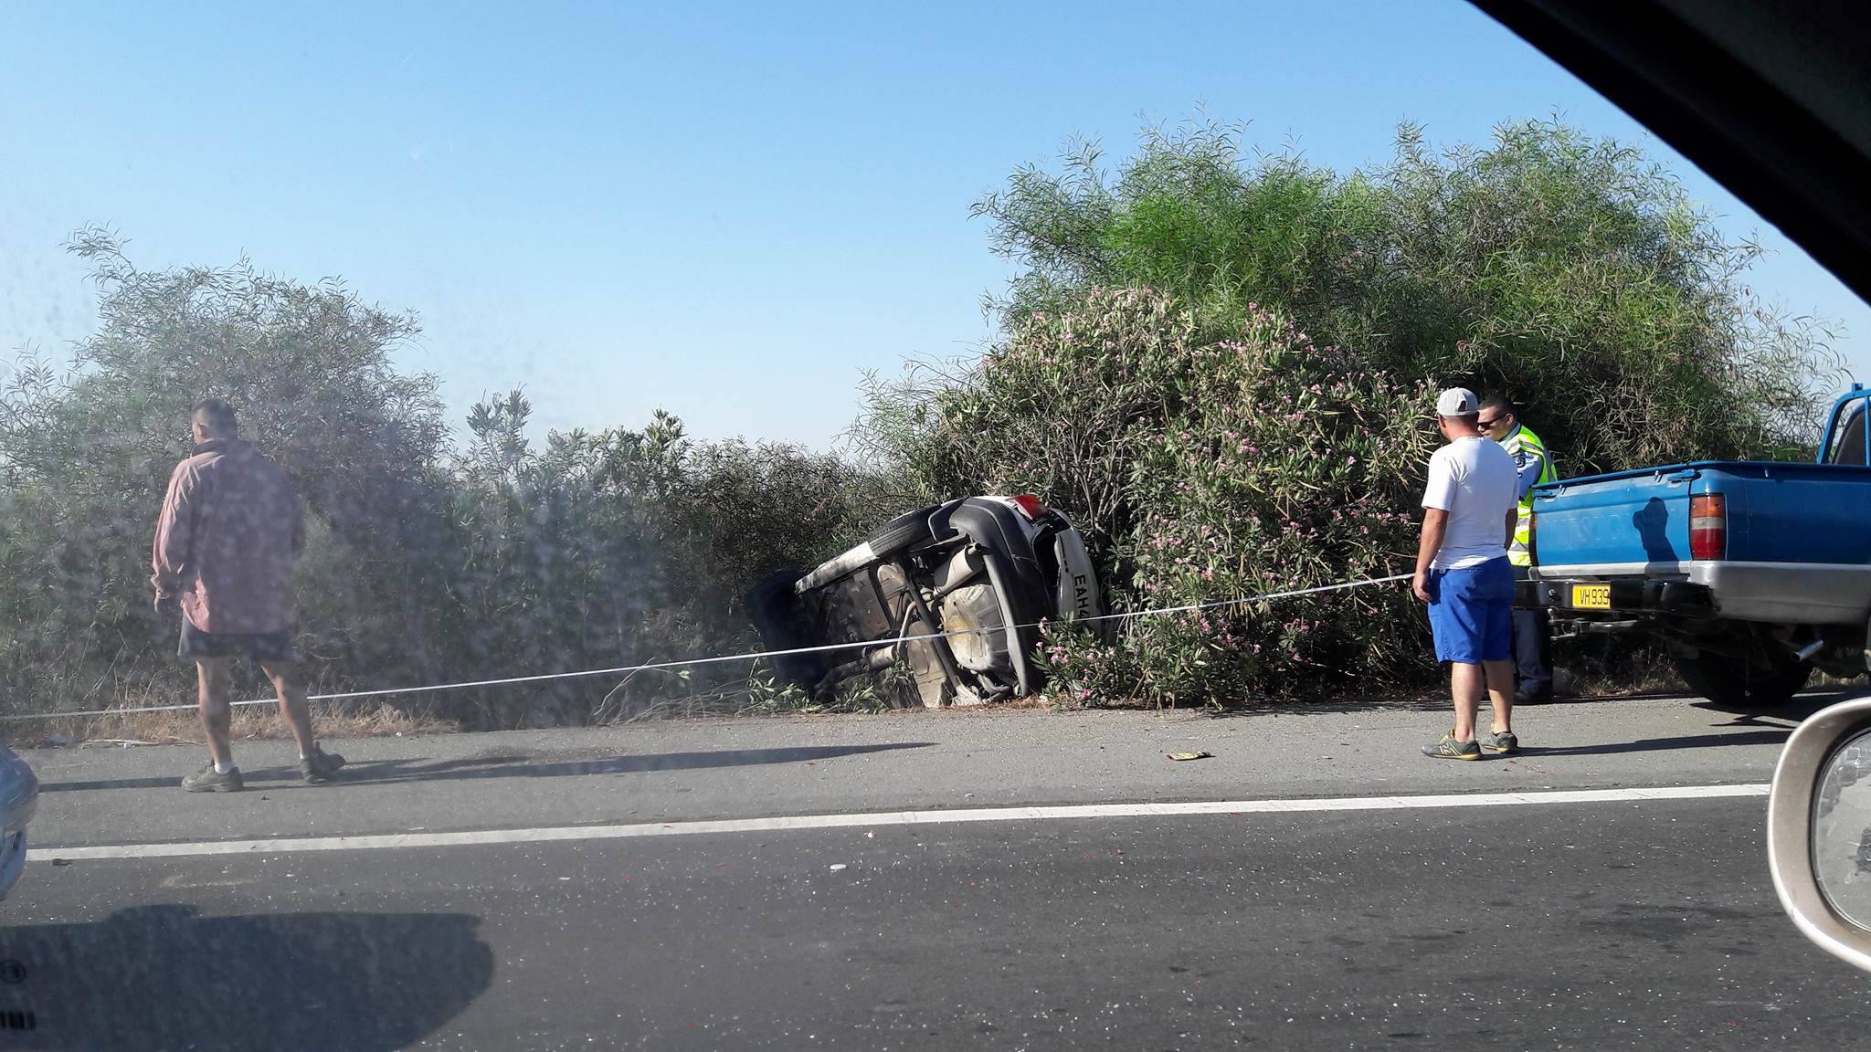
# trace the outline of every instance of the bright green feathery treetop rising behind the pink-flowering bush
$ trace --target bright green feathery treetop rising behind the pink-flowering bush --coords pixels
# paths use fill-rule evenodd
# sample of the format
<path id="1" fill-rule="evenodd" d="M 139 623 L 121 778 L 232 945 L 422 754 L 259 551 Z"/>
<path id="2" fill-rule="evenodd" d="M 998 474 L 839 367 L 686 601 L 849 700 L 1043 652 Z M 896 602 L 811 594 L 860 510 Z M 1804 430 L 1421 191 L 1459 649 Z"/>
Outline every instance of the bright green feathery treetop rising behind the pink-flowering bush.
<path id="1" fill-rule="evenodd" d="M 1278 307 L 1370 367 L 1514 397 L 1572 474 L 1811 442 L 1824 328 L 1759 303 L 1761 249 L 1639 150 L 1527 122 L 1435 152 L 1405 125 L 1388 165 L 1340 176 L 1240 139 L 1151 129 L 1115 174 L 1083 146 L 1014 172 L 975 206 L 1025 268 L 1003 316 L 1095 286 Z"/>

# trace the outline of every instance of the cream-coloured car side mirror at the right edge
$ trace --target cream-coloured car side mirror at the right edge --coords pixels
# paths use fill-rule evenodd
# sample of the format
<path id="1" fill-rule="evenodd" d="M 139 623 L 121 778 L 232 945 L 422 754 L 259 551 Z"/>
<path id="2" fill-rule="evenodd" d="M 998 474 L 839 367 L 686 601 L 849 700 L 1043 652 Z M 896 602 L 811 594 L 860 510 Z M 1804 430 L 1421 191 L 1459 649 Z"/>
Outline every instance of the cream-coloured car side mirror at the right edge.
<path id="1" fill-rule="evenodd" d="M 1871 972 L 1871 696 L 1794 728 L 1774 767 L 1766 846 L 1792 923 Z"/>

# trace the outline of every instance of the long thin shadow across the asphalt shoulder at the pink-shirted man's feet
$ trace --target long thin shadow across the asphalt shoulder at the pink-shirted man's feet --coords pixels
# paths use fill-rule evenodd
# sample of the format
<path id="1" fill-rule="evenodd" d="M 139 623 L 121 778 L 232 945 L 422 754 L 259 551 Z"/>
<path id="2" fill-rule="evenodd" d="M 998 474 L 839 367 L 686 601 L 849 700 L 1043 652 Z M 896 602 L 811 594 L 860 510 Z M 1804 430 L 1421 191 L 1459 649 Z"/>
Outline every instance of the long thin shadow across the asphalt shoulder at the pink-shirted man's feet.
<path id="1" fill-rule="evenodd" d="M 318 788 L 376 782 L 427 782 L 453 779 L 563 779 L 576 775 L 627 775 L 638 771 L 694 771 L 703 767 L 745 767 L 756 764 L 810 764 L 863 752 L 894 749 L 928 749 L 934 741 L 892 741 L 881 745 L 801 745 L 788 749 L 720 749 L 709 752 L 649 752 L 642 756 L 602 756 L 597 760 L 541 762 L 533 752 L 486 752 L 457 760 L 355 760 L 331 782 Z M 253 782 L 299 782 L 297 767 L 260 767 L 241 771 Z M 82 782 L 41 782 L 39 792 L 77 792 L 109 788 L 176 788 L 181 781 L 161 779 L 95 779 Z"/>

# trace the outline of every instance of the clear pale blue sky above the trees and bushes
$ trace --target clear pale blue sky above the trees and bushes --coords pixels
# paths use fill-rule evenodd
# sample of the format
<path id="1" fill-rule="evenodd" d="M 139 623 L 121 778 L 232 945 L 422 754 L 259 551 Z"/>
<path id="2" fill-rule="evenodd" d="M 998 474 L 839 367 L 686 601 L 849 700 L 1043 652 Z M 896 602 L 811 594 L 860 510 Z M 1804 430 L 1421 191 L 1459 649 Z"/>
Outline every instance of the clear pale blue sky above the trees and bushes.
<path id="1" fill-rule="evenodd" d="M 0 6 L 0 352 L 90 331 L 69 230 L 138 266 L 342 275 L 421 314 L 451 417 L 825 447 L 863 369 L 992 337 L 967 206 L 1066 137 L 1197 107 L 1338 168 L 1562 114 L 1643 140 L 1774 256 L 1755 288 L 1871 311 L 1620 110 L 1458 2 Z M 7 354 L 9 356 L 9 354 Z"/>

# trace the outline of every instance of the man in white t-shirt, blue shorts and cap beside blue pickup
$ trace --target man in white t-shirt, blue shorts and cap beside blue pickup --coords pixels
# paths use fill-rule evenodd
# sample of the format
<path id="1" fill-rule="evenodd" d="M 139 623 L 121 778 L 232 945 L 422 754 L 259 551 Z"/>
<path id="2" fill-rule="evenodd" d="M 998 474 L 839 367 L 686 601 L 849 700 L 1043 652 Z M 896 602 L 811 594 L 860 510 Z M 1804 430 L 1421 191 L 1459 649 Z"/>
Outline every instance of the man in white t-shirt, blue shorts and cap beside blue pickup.
<path id="1" fill-rule="evenodd" d="M 1476 425 L 1480 401 L 1467 387 L 1443 391 L 1435 425 L 1448 440 L 1429 457 L 1422 494 L 1422 545 L 1411 588 L 1429 605 L 1435 659 L 1446 661 L 1456 728 L 1435 745 L 1437 760 L 1480 760 L 1482 751 L 1512 752 L 1514 738 L 1514 567 L 1508 543 L 1519 522 L 1514 457 Z M 1482 689 L 1495 721 L 1476 736 Z"/>

